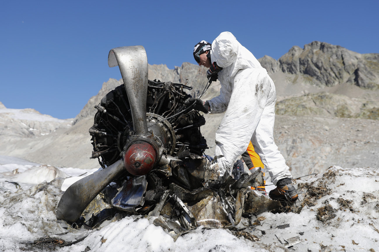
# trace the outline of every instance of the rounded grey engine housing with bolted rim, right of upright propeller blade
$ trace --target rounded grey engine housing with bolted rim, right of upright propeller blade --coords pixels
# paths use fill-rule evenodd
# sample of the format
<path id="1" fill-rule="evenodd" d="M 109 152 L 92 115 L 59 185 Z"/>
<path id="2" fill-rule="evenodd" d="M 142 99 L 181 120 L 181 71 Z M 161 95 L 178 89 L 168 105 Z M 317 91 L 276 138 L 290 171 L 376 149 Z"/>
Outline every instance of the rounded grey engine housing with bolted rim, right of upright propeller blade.
<path id="1" fill-rule="evenodd" d="M 166 148 L 167 154 L 172 155 L 175 150 L 176 136 L 171 124 L 164 117 L 146 113 L 147 129 L 152 130 L 154 136 L 160 139 L 163 147 Z"/>

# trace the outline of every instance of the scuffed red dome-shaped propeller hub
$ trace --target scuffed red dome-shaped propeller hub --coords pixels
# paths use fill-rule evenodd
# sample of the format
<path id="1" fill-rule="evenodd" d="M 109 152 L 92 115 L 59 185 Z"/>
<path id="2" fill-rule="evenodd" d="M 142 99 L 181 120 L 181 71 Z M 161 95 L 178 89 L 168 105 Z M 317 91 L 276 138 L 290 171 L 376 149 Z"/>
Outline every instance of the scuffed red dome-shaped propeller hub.
<path id="1" fill-rule="evenodd" d="M 124 157 L 125 169 L 132 175 L 142 176 L 153 169 L 157 152 L 148 142 L 136 142 L 128 148 Z"/>

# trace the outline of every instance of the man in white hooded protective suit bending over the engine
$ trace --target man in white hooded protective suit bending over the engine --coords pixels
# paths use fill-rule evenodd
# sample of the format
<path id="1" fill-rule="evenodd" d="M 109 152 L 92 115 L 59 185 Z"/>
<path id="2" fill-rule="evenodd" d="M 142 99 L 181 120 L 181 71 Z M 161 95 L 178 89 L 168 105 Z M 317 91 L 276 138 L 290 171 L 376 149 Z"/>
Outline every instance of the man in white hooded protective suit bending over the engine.
<path id="1" fill-rule="evenodd" d="M 296 201 L 298 193 L 289 167 L 274 142 L 276 91 L 265 68 L 230 32 L 222 32 L 212 44 L 204 40 L 197 43 L 194 58 L 209 68 L 210 82 L 218 79 L 221 83 L 220 95 L 211 100 L 186 100 L 187 105 L 194 104 L 204 113 L 225 112 L 216 131 L 214 162 L 218 162 L 220 175 L 232 172 L 236 157 L 251 141 L 277 186 L 269 196 Z"/>

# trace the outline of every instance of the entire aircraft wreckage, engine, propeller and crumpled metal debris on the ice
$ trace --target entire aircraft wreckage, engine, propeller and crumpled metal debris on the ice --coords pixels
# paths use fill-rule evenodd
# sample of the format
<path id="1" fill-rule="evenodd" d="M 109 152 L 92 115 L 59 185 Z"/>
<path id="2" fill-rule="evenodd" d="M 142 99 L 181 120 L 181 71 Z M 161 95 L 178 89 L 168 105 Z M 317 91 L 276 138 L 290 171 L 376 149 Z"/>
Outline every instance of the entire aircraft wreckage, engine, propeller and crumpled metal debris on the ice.
<path id="1" fill-rule="evenodd" d="M 219 176 L 202 157 L 205 119 L 184 101 L 183 84 L 148 80 L 143 46 L 111 49 L 124 84 L 103 97 L 92 136 L 92 158 L 102 170 L 72 184 L 63 194 L 58 220 L 98 227 L 126 215 L 159 216 L 155 222 L 175 233 L 197 226 L 234 227 L 241 217 L 277 209 L 278 201 L 250 187 L 263 185 L 260 169 L 235 180 Z"/>

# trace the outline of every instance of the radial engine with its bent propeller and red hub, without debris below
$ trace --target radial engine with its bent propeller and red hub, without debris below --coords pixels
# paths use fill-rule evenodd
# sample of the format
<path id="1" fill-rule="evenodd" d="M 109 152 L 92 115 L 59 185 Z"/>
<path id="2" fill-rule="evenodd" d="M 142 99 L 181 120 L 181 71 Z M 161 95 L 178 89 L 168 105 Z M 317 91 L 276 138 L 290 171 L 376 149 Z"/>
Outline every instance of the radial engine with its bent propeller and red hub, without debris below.
<path id="1" fill-rule="evenodd" d="M 92 158 L 99 159 L 103 170 L 66 190 L 56 210 L 58 220 L 77 221 L 112 181 L 140 178 L 172 161 L 182 162 L 177 158 L 180 153 L 201 156 L 207 148 L 199 128 L 205 124 L 204 117 L 184 105 L 191 96 L 183 88 L 191 87 L 148 80 L 143 46 L 111 49 L 108 65 L 119 66 L 124 84 L 95 106 L 98 112 L 89 129 Z"/>

